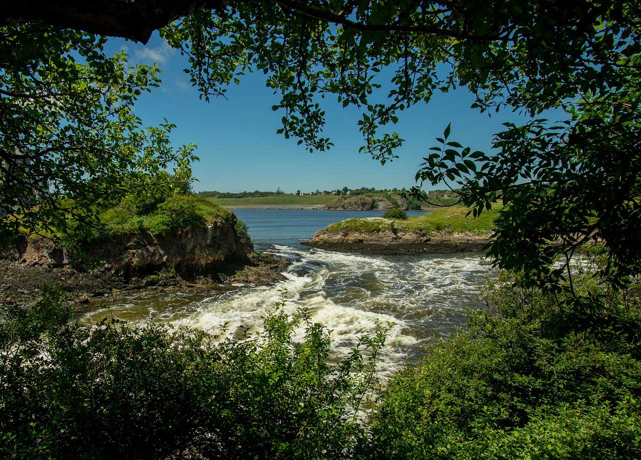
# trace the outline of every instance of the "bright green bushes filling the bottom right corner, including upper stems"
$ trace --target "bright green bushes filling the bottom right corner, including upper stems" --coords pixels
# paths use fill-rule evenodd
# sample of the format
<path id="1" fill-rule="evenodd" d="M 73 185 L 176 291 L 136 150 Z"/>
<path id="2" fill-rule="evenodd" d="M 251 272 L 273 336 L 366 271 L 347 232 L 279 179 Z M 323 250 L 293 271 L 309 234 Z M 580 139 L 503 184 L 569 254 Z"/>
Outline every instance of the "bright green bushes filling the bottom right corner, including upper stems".
<path id="1" fill-rule="evenodd" d="M 372 456 L 641 457 L 641 308 L 592 273 L 556 293 L 490 278 L 490 309 L 388 385 Z"/>

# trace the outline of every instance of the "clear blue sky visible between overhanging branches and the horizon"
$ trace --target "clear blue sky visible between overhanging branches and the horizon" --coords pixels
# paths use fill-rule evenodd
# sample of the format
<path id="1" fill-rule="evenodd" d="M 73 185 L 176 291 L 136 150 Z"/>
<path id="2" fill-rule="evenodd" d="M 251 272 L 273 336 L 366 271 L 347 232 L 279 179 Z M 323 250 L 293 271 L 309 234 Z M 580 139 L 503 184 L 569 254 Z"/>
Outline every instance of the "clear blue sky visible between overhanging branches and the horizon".
<path id="1" fill-rule="evenodd" d="M 287 193 L 300 189 L 342 187 L 410 187 L 422 157 L 436 144 L 447 123 L 452 122 L 451 139 L 472 150 L 489 150 L 492 133 L 501 130 L 501 123 L 522 120 L 503 112 L 481 114 L 470 109 L 472 97 L 467 90 L 435 93 L 429 104 L 420 104 L 399 113 L 394 131 L 406 139 L 397 151 L 399 159 L 384 166 L 369 155 L 359 154 L 363 139 L 356 122 L 360 118 L 353 109 L 343 109 L 335 100 L 324 100 L 327 125 L 324 136 L 335 144 L 328 152 L 310 154 L 297 139 L 276 134 L 281 127 L 280 111 L 271 106 L 278 95 L 265 87 L 265 77 L 254 73 L 241 78 L 240 85 L 229 86 L 227 99 L 199 100 L 198 91 L 190 86 L 183 72 L 185 58 L 172 50 L 158 36 L 147 45 L 112 40 L 109 48 L 126 49 L 131 61 L 157 62 L 162 68 L 163 84 L 138 99 L 135 112 L 145 125 L 163 122 L 163 117 L 177 125 L 172 142 L 182 145 L 196 143 L 199 163 L 193 173 L 200 182 L 197 191 L 228 192 L 276 190 Z"/>

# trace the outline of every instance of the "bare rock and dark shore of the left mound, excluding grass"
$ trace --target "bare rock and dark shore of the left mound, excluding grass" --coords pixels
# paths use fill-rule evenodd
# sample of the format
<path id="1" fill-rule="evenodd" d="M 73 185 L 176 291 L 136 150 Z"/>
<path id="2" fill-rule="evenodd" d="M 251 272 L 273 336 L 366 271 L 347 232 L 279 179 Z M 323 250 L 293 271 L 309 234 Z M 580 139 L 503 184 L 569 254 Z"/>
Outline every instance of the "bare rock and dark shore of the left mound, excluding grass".
<path id="1" fill-rule="evenodd" d="M 281 272 L 291 263 L 254 252 L 246 226 L 228 210 L 176 225 L 163 232 L 142 226 L 82 247 L 15 237 L 0 248 L 0 301 L 32 303 L 45 285 L 67 292 L 76 302 L 122 290 L 264 285 L 283 280 Z"/>

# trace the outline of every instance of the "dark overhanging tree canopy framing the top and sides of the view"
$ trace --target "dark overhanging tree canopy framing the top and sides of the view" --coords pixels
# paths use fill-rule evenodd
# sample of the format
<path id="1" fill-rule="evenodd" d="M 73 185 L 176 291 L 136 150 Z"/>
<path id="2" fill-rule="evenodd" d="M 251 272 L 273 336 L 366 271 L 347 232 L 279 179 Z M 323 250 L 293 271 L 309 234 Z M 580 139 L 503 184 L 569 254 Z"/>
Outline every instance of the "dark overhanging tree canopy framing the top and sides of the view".
<path id="1" fill-rule="evenodd" d="M 526 269 L 532 280 L 558 279 L 563 272 L 554 260 L 570 258 L 589 239 L 606 242 L 611 276 L 640 267 L 641 7 L 635 2 L 121 0 L 96 5 L 62 1 L 42 9 L 37 8 L 40 3 L 10 2 L 0 10 L 7 55 L 0 109 L 5 119 L 16 120 L 8 123 L 15 126 L 12 131 L 3 127 L 7 152 L 33 152 L 38 145 L 45 157 L 58 161 L 64 156 L 58 153 L 63 151 L 58 134 L 66 139 L 69 120 L 90 115 L 108 123 L 92 123 L 88 136 L 106 145 L 85 143 L 91 155 L 108 158 L 108 170 L 112 164 L 139 170 L 133 166 L 136 161 L 147 166 L 184 162 L 189 148 L 170 152 L 162 141 L 171 125 L 141 130 L 131 115 L 129 122 L 115 123 L 114 116 L 126 118 L 128 112 L 112 114 L 110 107 L 129 107 L 137 89 L 156 83 L 155 74 L 142 66 L 124 70 L 117 56 L 101 55 L 104 39 L 92 35 L 146 42 L 151 30 L 158 29 L 187 56 L 190 81 L 203 99 L 224 95 L 226 86 L 239 83 L 246 72 L 262 71 L 267 86 L 281 96 L 272 107 L 283 111 L 278 132 L 297 138 L 310 151 L 332 147 L 322 133 L 323 99 L 328 97 L 360 109 L 361 150 L 381 163 L 393 159 L 403 144 L 401 134 L 389 129 L 399 112 L 429 102 L 435 91 L 464 86 L 475 95 L 473 106 L 480 111 L 527 113 L 531 122 L 507 125 L 495 134 L 494 150 L 488 153 L 453 141 L 447 125 L 417 180 L 454 182 L 461 201 L 476 213 L 504 200 L 490 253 L 499 266 Z M 120 21 L 121 15 L 128 19 Z M 136 30 L 132 22 L 140 27 Z M 74 104 L 55 108 L 59 106 L 49 103 L 56 82 L 69 86 L 79 81 L 69 70 L 78 66 L 87 72 L 87 83 L 70 99 L 101 101 L 94 102 L 94 109 L 83 106 L 96 113 L 80 118 L 74 116 L 72 110 L 79 110 Z M 105 72 L 113 79 L 102 86 L 98 82 Z M 29 97 L 35 81 L 42 81 L 44 97 Z M 59 113 L 51 121 L 56 132 L 48 134 L 51 140 L 32 139 L 40 132 L 39 122 L 22 113 L 34 101 L 38 111 Z M 550 109 L 553 122 L 544 117 Z M 122 159 L 98 153 L 123 150 L 135 155 Z M 160 152 L 160 157 L 146 157 L 145 151 Z M 75 158 L 81 161 L 83 155 Z M 77 177 L 92 173 L 85 168 Z M 73 194 L 73 187 L 62 189 Z"/>

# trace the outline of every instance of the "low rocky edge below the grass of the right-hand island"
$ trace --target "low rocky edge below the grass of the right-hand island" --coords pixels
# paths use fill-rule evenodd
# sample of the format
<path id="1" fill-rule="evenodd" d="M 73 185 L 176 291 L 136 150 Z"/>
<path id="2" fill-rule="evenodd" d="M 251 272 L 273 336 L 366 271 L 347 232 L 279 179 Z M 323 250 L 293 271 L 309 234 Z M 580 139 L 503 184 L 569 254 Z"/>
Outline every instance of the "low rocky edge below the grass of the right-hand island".
<path id="1" fill-rule="evenodd" d="M 420 253 L 477 252 L 490 241 L 492 232 L 485 234 L 451 233 L 447 231 L 413 232 L 383 230 L 357 232 L 353 230 L 316 232 L 302 244 L 331 251 L 358 252 L 372 255 L 401 255 Z"/>

